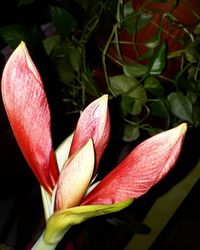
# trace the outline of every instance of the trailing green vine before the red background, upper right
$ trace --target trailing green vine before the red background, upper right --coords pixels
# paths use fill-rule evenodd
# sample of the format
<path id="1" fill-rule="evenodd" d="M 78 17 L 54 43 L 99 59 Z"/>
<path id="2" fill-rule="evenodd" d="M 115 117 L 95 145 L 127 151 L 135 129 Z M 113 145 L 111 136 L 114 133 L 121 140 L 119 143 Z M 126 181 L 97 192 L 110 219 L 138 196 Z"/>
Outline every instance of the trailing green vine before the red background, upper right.
<path id="1" fill-rule="evenodd" d="M 199 126 L 199 8 L 195 1 L 126 1 L 117 9 L 103 68 L 110 92 L 121 97 L 124 140 L 181 121 Z M 119 68 L 114 76 L 107 59 Z"/>

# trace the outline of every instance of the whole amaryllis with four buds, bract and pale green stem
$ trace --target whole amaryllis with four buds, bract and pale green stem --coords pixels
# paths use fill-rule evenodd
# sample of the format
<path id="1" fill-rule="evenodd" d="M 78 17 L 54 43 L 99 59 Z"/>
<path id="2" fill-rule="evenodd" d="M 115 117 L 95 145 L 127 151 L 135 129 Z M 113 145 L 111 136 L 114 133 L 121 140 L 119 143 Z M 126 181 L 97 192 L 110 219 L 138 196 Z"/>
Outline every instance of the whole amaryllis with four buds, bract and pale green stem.
<path id="1" fill-rule="evenodd" d="M 175 165 L 187 129 L 183 123 L 145 140 L 93 184 L 110 134 L 108 95 L 86 107 L 55 154 L 43 83 L 23 42 L 4 68 L 2 95 L 17 142 L 42 186 L 47 225 L 32 249 L 55 249 L 72 225 L 119 211 L 146 193 Z"/>

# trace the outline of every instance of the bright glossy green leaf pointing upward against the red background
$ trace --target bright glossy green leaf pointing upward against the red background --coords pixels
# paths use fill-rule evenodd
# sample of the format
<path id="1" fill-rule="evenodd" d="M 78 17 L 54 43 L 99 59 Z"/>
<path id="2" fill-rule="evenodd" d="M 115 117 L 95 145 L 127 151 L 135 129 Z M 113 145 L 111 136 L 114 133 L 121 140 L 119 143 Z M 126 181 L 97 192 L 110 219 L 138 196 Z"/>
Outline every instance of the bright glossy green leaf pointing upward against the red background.
<path id="1" fill-rule="evenodd" d="M 162 43 L 156 50 L 150 65 L 149 74 L 150 75 L 160 75 L 165 68 L 167 60 L 167 46 Z"/>

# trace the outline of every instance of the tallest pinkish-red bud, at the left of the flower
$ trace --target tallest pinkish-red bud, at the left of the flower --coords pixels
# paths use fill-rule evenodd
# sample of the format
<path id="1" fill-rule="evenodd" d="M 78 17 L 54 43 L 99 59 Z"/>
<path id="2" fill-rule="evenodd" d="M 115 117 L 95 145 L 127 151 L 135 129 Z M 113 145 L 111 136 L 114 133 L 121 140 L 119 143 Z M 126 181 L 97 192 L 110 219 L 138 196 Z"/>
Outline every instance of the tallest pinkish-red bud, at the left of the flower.
<path id="1" fill-rule="evenodd" d="M 42 79 L 23 42 L 5 65 L 2 95 L 20 149 L 40 184 L 51 193 L 58 169 L 52 149 L 49 106 Z"/>

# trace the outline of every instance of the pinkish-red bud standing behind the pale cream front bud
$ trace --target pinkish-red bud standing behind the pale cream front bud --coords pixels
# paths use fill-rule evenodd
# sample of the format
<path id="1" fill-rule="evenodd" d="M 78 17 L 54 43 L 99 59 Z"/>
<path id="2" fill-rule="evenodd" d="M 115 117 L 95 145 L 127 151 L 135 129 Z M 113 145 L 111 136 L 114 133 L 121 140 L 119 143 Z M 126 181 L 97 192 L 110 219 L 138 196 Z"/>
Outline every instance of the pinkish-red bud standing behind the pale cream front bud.
<path id="1" fill-rule="evenodd" d="M 110 135 L 110 116 L 108 96 L 103 95 L 90 103 L 81 114 L 74 133 L 70 156 L 83 147 L 92 138 L 95 148 L 96 167 L 108 144 Z"/>

